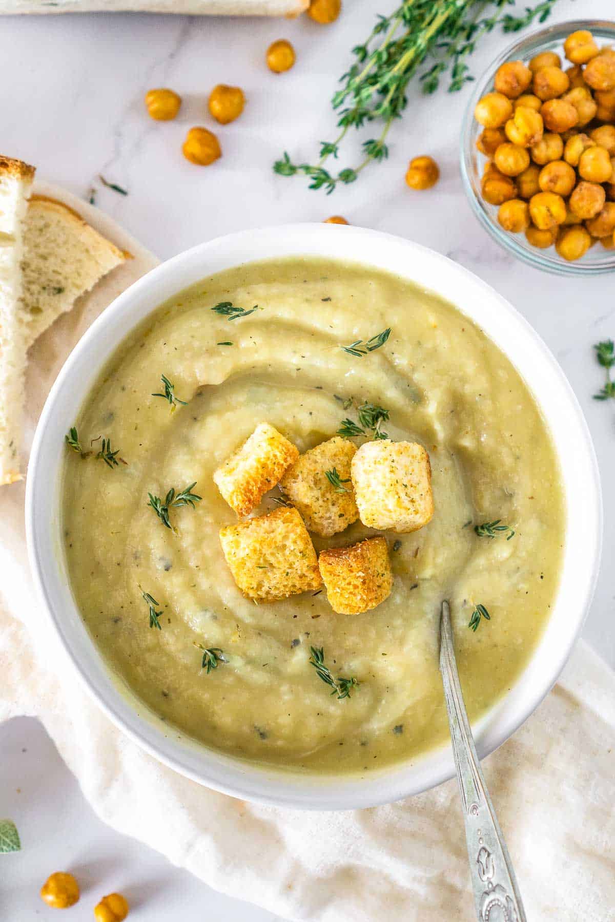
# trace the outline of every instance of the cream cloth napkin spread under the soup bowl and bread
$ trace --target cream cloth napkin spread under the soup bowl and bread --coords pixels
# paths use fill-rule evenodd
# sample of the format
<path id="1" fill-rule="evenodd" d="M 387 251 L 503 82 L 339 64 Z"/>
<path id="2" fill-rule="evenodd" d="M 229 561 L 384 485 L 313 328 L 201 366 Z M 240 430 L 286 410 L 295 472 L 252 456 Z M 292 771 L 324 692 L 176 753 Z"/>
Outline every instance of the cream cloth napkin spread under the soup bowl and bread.
<path id="1" fill-rule="evenodd" d="M 136 259 L 32 350 L 30 427 L 83 328 L 155 264 L 110 219 L 62 197 Z M 372 810 L 280 810 L 196 785 L 124 738 L 81 688 L 33 596 L 23 499 L 22 484 L 0 491 L 0 721 L 40 717 L 102 820 L 290 919 L 476 918 L 455 781 Z M 615 675 L 578 644 L 554 690 L 483 767 L 528 918 L 615 922 Z"/>

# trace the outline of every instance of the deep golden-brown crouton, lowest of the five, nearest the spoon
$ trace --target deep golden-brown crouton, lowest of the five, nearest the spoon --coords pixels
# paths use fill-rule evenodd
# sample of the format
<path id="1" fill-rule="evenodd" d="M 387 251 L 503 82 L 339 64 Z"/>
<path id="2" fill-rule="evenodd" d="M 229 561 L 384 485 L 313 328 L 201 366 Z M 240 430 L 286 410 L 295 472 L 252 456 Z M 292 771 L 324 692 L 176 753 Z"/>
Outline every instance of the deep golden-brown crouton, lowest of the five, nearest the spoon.
<path id="1" fill-rule="evenodd" d="M 329 605 L 340 615 L 375 609 L 391 593 L 393 576 L 382 536 L 366 538 L 349 548 L 323 550 L 318 566 Z"/>

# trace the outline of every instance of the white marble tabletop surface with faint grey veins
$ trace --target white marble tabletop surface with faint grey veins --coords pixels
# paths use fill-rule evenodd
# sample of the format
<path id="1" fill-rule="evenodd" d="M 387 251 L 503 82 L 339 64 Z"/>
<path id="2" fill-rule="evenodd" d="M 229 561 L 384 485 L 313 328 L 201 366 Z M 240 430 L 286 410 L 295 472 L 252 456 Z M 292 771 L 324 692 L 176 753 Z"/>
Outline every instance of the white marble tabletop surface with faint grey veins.
<path id="1" fill-rule="evenodd" d="M 592 344 L 615 337 L 613 277 L 584 280 L 542 274 L 516 262 L 473 218 L 457 170 L 457 144 L 467 91 L 411 95 L 408 114 L 390 136 L 391 156 L 361 181 L 325 197 L 301 179 L 281 179 L 271 163 L 284 148 L 309 158 L 333 136 L 326 100 L 348 50 L 388 0 L 346 0 L 337 25 L 298 21 L 144 15 L 0 18 L 0 148 L 37 165 L 42 178 L 87 195 L 96 176 L 124 186 L 125 198 L 101 189 L 97 202 L 161 258 L 227 231 L 343 214 L 353 224 L 390 231 L 450 255 L 491 283 L 526 315 L 556 354 L 592 431 L 605 508 L 615 502 L 615 405 L 591 395 L 602 384 Z M 559 0 L 552 21 L 612 16 L 612 0 Z M 270 41 L 287 37 L 297 65 L 275 76 L 264 65 Z M 508 38 L 480 42 L 479 72 Z M 218 83 L 241 85 L 248 103 L 235 124 L 216 128 L 223 158 L 209 169 L 185 160 L 181 145 L 195 124 L 213 127 L 207 93 Z M 147 89 L 170 86 L 184 100 L 177 121 L 146 116 Z M 404 184 L 408 159 L 430 153 L 442 179 L 431 193 Z M 615 520 L 606 516 L 605 558 L 585 638 L 615 666 L 615 575 L 609 560 Z M 20 789 L 20 793 L 18 793 Z M 34 721 L 0 727 L 0 815 L 12 814 L 24 851 L 2 859 L 0 917 L 6 922 L 55 917 L 37 891 L 53 869 L 77 868 L 88 881 L 74 922 L 91 918 L 101 892 L 124 888 L 131 918 L 195 922 L 273 922 L 264 910 L 229 900 L 132 840 L 102 826 L 81 797 L 51 742 Z M 243 893 L 242 896 L 249 896 Z"/>

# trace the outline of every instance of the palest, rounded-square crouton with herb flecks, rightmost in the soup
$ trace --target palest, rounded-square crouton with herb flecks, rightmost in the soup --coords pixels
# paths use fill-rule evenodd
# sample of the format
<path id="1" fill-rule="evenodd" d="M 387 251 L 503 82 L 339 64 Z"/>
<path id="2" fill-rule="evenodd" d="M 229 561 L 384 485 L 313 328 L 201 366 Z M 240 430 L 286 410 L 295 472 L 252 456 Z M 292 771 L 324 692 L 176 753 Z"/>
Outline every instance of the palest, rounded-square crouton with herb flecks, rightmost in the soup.
<path id="1" fill-rule="evenodd" d="M 432 518 L 432 467 L 422 445 L 367 442 L 353 457 L 350 471 L 363 525 L 417 531 Z"/>

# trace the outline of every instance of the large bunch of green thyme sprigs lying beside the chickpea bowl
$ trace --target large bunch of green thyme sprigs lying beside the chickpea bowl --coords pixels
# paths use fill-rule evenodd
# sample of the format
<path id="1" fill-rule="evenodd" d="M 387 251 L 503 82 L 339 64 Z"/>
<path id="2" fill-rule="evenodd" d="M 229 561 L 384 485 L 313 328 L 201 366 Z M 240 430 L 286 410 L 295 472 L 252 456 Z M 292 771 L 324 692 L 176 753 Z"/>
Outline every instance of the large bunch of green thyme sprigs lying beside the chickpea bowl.
<path id="1" fill-rule="evenodd" d="M 540 0 L 526 7 L 521 16 L 504 13 L 511 0 L 403 0 L 389 16 L 379 16 L 367 40 L 352 49 L 355 61 L 340 78 L 331 104 L 338 113 L 339 133 L 333 141 L 322 141 L 316 163 L 293 163 L 285 151 L 274 164 L 279 176 L 302 174 L 311 189 L 325 189 L 330 195 L 338 183 L 354 183 L 365 167 L 388 157 L 386 136 L 408 104 L 407 87 L 420 66 L 432 65 L 420 74 L 421 89 L 433 93 L 450 71 L 449 92 L 462 89 L 473 77 L 466 64 L 484 34 L 500 25 L 504 32 L 525 29 L 536 19 L 544 22 L 556 0 Z M 379 136 L 363 142 L 363 159 L 358 166 L 329 171 L 325 163 L 337 160 L 341 142 L 350 128 L 370 122 L 383 124 Z"/>

